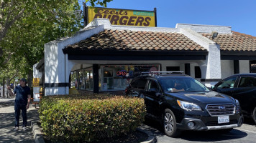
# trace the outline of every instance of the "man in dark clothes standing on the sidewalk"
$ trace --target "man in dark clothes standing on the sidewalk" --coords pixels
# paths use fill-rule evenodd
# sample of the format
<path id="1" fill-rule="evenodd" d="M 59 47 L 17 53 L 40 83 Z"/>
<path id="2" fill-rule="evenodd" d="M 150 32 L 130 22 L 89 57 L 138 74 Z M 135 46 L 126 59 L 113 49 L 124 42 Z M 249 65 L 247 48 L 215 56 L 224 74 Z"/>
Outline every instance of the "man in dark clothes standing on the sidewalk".
<path id="1" fill-rule="evenodd" d="M 20 110 L 22 110 L 22 119 L 23 119 L 22 129 L 24 131 L 27 129 L 27 109 L 29 109 L 31 94 L 30 94 L 30 88 L 27 87 L 26 82 L 27 82 L 26 79 L 24 78 L 20 79 L 19 85 L 14 89 L 14 93 L 11 91 L 11 87 L 7 87 L 8 92 L 11 96 L 14 96 L 14 94 L 16 94 L 15 104 L 14 104 L 14 109 L 15 109 L 14 131 L 17 131 L 19 129 Z"/>

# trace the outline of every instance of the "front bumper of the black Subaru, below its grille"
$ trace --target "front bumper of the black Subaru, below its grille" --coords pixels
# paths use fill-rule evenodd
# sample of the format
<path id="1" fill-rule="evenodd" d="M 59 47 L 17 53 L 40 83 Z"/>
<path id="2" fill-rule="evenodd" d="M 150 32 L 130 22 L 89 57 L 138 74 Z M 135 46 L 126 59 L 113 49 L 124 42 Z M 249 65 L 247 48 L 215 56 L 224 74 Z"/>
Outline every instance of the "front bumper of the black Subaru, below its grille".
<path id="1" fill-rule="evenodd" d="M 204 131 L 204 130 L 216 130 L 216 129 L 231 129 L 235 127 L 241 127 L 244 122 L 244 117 L 242 114 L 236 114 L 232 115 L 231 119 L 237 118 L 236 122 L 229 122 L 225 124 L 209 124 L 209 122 L 206 121 L 206 119 L 194 119 L 194 118 L 184 118 L 180 124 L 177 124 L 178 129 L 181 130 L 198 130 L 198 131 Z M 212 119 L 216 119 L 216 117 L 212 117 Z M 189 127 L 189 123 L 193 123 L 193 127 Z"/>

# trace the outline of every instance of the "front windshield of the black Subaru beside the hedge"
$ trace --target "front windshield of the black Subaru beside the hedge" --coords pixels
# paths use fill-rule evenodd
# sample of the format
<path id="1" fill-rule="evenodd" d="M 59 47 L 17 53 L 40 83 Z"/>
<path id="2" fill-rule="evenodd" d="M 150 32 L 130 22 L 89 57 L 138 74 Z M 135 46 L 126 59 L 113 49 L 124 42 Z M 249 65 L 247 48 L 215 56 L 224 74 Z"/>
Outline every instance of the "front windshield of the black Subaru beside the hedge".
<path id="1" fill-rule="evenodd" d="M 209 89 L 193 78 L 160 79 L 164 92 L 209 92 Z"/>

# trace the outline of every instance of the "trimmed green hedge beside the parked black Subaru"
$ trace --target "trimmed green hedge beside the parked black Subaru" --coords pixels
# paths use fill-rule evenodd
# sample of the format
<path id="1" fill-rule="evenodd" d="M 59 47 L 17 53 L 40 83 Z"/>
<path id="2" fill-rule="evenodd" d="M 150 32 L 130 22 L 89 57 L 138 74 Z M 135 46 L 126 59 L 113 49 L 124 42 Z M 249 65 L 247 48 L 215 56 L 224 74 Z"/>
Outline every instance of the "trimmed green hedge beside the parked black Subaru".
<path id="1" fill-rule="evenodd" d="M 134 131 L 146 109 L 143 99 L 133 97 L 55 95 L 41 99 L 39 113 L 52 141 L 93 142 Z"/>

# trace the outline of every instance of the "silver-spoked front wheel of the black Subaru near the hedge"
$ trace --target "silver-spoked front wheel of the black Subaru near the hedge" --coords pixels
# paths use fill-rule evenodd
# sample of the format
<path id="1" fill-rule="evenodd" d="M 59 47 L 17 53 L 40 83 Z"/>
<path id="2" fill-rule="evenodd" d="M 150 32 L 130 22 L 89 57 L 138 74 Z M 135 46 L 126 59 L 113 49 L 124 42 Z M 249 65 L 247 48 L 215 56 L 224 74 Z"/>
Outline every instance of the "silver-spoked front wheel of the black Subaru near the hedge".
<path id="1" fill-rule="evenodd" d="M 165 109 L 163 114 L 163 127 L 165 134 L 169 137 L 177 137 L 180 134 L 180 130 L 176 126 L 175 116 L 170 109 Z"/>

